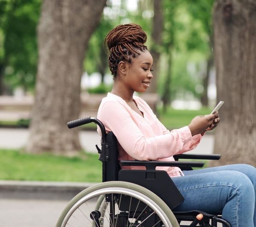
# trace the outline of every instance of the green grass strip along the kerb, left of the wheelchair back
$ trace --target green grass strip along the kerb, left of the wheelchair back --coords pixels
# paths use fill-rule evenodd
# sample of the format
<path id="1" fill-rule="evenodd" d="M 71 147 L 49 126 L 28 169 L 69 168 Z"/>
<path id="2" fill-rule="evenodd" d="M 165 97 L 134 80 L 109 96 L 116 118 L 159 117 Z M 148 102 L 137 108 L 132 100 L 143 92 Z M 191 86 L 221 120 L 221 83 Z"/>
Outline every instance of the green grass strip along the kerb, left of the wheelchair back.
<path id="1" fill-rule="evenodd" d="M 67 158 L 0 149 L 0 179 L 101 182 L 102 164 L 98 155 L 86 153 L 80 156 Z"/>

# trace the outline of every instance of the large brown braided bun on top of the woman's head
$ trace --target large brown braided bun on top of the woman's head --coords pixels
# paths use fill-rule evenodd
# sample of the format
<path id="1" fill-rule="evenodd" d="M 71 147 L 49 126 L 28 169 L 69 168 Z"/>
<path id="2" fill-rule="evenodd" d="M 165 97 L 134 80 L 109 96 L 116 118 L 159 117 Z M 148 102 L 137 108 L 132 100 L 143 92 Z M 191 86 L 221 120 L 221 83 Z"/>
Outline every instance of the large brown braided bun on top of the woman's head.
<path id="1" fill-rule="evenodd" d="M 141 43 L 144 44 L 147 40 L 147 35 L 138 24 L 122 24 L 112 29 L 106 39 L 105 43 L 110 50 L 112 47 L 123 43 Z"/>

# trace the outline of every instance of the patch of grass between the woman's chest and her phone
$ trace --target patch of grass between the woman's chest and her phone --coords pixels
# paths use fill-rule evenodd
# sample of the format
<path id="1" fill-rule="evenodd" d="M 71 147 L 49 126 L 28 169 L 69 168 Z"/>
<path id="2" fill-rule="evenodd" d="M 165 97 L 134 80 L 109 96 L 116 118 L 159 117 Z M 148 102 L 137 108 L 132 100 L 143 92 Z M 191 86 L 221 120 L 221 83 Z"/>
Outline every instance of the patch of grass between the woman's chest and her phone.
<path id="1" fill-rule="evenodd" d="M 195 116 L 206 115 L 210 112 L 211 110 L 205 107 L 200 110 L 178 110 L 169 108 L 166 113 L 163 113 L 163 109 L 158 109 L 159 120 L 167 129 L 177 129 L 186 126 Z"/>

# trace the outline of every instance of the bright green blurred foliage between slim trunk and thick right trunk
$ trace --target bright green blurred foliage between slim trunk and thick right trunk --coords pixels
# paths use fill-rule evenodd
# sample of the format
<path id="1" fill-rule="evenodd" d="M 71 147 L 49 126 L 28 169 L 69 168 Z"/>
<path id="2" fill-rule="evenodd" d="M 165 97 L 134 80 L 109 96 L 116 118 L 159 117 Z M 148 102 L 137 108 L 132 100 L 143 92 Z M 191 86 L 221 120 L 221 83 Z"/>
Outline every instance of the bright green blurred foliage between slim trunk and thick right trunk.
<path id="1" fill-rule="evenodd" d="M 190 0 L 164 1 L 160 84 L 165 86 L 162 90 L 163 97 L 167 96 L 165 99 L 186 98 L 186 94 L 200 98 L 202 95 L 198 84 L 204 83 L 203 63 L 212 55 L 209 44 L 212 4 L 213 0 L 207 3 L 201 0 L 196 3 Z"/>

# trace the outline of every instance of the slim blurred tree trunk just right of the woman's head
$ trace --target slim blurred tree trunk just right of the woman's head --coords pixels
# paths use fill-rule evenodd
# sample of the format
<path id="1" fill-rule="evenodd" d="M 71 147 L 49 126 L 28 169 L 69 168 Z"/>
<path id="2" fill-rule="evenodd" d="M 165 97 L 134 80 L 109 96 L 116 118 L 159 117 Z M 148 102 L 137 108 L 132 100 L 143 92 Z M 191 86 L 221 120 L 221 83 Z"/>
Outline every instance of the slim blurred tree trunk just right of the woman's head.
<path id="1" fill-rule="evenodd" d="M 153 17 L 153 32 L 152 39 L 153 45 L 151 47 L 151 55 L 154 60 L 154 78 L 150 83 L 148 92 L 157 93 L 157 78 L 159 78 L 159 58 L 160 58 L 160 45 L 162 44 L 162 32 L 163 32 L 163 12 L 162 12 L 162 0 L 154 0 L 154 17 Z"/>

